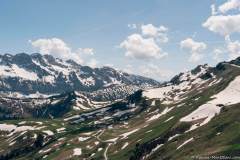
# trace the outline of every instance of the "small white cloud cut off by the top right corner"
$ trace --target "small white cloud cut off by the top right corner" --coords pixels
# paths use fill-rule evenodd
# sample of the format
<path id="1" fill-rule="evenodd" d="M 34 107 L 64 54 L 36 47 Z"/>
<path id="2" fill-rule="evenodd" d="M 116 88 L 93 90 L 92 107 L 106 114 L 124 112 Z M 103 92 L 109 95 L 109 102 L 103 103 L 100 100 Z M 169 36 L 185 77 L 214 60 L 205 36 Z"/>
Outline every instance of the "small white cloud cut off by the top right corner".
<path id="1" fill-rule="evenodd" d="M 218 7 L 219 12 L 221 13 L 226 13 L 233 9 L 240 9 L 239 0 L 228 0 L 227 2 Z"/>

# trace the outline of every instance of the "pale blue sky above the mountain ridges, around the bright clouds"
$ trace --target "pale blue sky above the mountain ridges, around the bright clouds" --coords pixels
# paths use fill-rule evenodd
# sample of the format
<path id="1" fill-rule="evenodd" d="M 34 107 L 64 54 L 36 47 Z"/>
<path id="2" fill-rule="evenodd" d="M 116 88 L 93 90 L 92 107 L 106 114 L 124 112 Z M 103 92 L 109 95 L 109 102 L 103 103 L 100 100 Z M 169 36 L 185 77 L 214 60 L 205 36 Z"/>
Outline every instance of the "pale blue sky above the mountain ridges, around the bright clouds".
<path id="1" fill-rule="evenodd" d="M 70 52 L 80 54 L 81 63 L 84 65 L 113 65 L 115 68 L 131 73 L 147 75 L 157 80 L 167 80 L 174 74 L 191 69 L 198 64 L 215 65 L 220 60 L 229 59 L 228 45 L 230 42 L 232 44 L 238 42 L 238 29 L 233 33 L 227 32 L 222 35 L 216 26 L 219 21 L 213 20 L 207 26 L 203 26 L 203 23 L 211 16 L 227 16 L 227 13 L 222 13 L 221 10 L 216 15 L 211 13 L 212 4 L 215 4 L 218 10 L 218 7 L 224 3 L 227 1 L 1 0 L 0 53 L 40 52 L 44 46 L 40 42 L 37 43 L 37 40 L 56 38 L 67 46 L 63 54 Z M 231 12 L 233 9 L 236 8 L 227 8 L 227 11 Z M 238 11 L 229 14 L 238 15 Z M 142 26 L 148 24 L 155 28 L 160 26 L 167 28 L 164 36 L 168 38 L 168 41 L 162 43 L 158 42 L 156 37 L 144 35 Z M 133 25 L 134 28 L 129 27 Z M 166 52 L 167 56 L 137 57 L 138 53 L 133 53 L 131 50 L 130 39 L 134 36 L 128 39 L 133 34 L 135 38 L 142 38 L 143 41 L 152 39 L 157 49 L 161 49 L 156 54 Z M 159 34 L 161 34 L 160 30 Z M 229 43 L 226 40 L 227 36 L 231 37 Z M 125 45 L 121 45 L 124 41 Z M 184 43 L 181 46 L 182 41 Z M 152 41 L 149 43 L 152 44 Z M 199 46 L 193 49 L 192 45 Z M 82 48 L 81 53 L 79 48 Z M 93 54 L 84 53 L 84 48 L 93 49 L 90 50 Z M 61 52 L 60 49 L 57 51 Z M 216 49 L 221 52 L 219 54 L 221 57 L 214 57 Z M 234 49 L 236 52 L 239 51 L 236 47 Z M 126 56 L 129 50 L 130 56 Z M 45 52 L 48 51 L 56 52 L 54 49 L 45 50 Z M 134 50 L 134 52 L 137 51 Z M 147 51 L 142 54 L 150 55 L 151 53 Z M 200 54 L 201 57 L 190 60 L 192 54 L 195 54 L 193 56 Z M 58 53 L 54 55 L 58 56 Z"/>

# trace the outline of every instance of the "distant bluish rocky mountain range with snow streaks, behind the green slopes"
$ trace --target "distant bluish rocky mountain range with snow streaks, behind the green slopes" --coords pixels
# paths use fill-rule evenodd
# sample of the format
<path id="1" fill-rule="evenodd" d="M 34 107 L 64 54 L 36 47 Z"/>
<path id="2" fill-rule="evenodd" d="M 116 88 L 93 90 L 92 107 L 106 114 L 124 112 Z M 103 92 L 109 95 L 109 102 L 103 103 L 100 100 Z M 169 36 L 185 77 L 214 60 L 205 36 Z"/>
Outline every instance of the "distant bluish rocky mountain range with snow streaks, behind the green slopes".
<path id="1" fill-rule="evenodd" d="M 108 96 L 120 99 L 126 97 L 127 91 L 130 94 L 137 89 L 157 85 L 159 82 L 150 78 L 110 67 L 82 66 L 73 60 L 63 61 L 51 55 L 0 55 L 0 92 L 3 94 L 36 97 L 80 91 L 91 93 L 98 99 L 107 99 L 106 95 L 97 95 L 107 90 Z M 110 90 L 118 91 L 118 96 L 109 95 Z"/>

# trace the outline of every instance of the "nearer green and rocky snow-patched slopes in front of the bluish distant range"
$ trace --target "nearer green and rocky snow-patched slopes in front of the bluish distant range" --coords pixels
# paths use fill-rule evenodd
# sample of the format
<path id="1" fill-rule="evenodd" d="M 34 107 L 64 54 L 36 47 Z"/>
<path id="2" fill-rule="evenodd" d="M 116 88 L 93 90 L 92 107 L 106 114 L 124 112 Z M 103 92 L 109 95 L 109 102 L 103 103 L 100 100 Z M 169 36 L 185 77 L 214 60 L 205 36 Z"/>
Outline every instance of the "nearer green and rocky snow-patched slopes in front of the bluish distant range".
<path id="1" fill-rule="evenodd" d="M 28 104 L 18 111 L 30 116 L 1 120 L 0 159 L 237 159 L 239 64 L 200 65 L 104 104 L 81 92 L 45 98 L 38 111 Z"/>

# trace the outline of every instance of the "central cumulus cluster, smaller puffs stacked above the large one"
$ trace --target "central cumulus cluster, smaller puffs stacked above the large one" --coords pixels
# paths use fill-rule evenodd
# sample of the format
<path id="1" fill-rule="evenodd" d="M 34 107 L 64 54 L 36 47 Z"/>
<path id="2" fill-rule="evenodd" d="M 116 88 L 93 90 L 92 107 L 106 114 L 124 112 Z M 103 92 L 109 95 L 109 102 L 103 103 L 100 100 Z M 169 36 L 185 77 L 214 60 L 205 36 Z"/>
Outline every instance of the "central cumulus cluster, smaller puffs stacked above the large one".
<path id="1" fill-rule="evenodd" d="M 130 28 L 137 28 L 129 24 Z M 129 35 L 120 44 L 120 48 L 126 50 L 125 56 L 136 59 L 162 58 L 167 55 L 160 47 L 160 43 L 168 42 L 168 28 L 165 26 L 156 27 L 153 24 L 141 26 L 141 33 Z"/>

